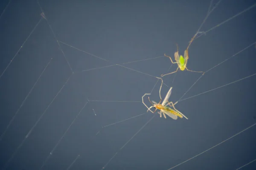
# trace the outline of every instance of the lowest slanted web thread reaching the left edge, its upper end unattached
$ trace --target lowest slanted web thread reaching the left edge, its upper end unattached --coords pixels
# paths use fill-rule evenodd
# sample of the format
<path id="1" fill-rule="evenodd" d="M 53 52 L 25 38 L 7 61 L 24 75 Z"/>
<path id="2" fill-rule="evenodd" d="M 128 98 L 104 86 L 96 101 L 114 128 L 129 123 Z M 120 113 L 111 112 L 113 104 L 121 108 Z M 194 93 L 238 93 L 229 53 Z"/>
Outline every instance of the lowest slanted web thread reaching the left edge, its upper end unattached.
<path id="1" fill-rule="evenodd" d="M 29 97 L 29 95 L 31 94 L 32 90 L 34 89 L 35 85 L 37 84 L 38 80 L 41 78 L 41 76 L 44 74 L 44 71 L 46 70 L 46 68 L 48 67 L 48 65 L 50 64 L 50 62 L 52 61 L 52 58 L 50 59 L 50 61 L 47 63 L 47 65 L 44 67 L 44 70 L 41 72 L 41 74 L 39 75 L 38 79 L 36 80 L 36 82 L 34 83 L 34 85 L 32 86 L 32 88 L 29 90 L 29 93 L 26 95 L 25 99 L 23 100 L 23 102 L 21 103 L 20 107 L 17 109 L 17 111 L 15 112 L 14 116 L 12 116 L 12 119 L 10 120 L 9 124 L 7 125 L 6 129 L 3 131 L 3 133 L 0 136 L 0 141 L 3 139 L 4 135 L 6 134 L 7 130 L 9 129 L 9 127 L 12 125 L 12 122 L 14 121 L 15 117 L 17 116 L 17 114 L 20 111 L 20 108 L 22 108 L 22 106 L 24 105 L 24 103 L 26 102 L 26 99 Z"/>

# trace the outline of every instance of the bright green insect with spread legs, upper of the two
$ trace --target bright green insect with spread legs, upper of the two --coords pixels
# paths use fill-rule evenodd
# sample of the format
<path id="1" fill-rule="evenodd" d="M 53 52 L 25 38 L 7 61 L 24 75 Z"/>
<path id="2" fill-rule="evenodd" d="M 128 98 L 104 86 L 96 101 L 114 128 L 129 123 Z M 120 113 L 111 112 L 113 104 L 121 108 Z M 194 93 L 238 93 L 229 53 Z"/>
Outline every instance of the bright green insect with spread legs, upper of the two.
<path id="1" fill-rule="evenodd" d="M 194 40 L 195 36 L 192 38 L 192 40 L 190 41 L 189 45 L 191 44 L 191 42 Z M 180 68 L 181 71 L 184 71 L 185 69 L 187 71 L 192 71 L 192 70 L 189 70 L 186 65 L 187 65 L 187 62 L 188 62 L 188 59 L 189 59 L 189 46 L 188 48 L 184 51 L 184 57 L 182 55 L 179 55 L 179 49 L 178 49 L 178 45 L 177 45 L 177 51 L 174 53 L 174 57 L 175 57 L 175 61 L 176 62 L 173 62 L 172 61 L 172 58 L 169 57 L 169 56 L 166 56 L 166 54 L 164 54 L 165 57 L 169 57 L 171 59 L 171 62 L 172 64 L 175 64 L 177 63 L 178 65 L 178 68 L 176 69 L 176 71 L 172 72 L 172 73 L 168 73 L 168 74 L 161 74 L 161 77 L 164 77 L 166 75 L 169 75 L 169 74 L 173 74 L 173 73 L 176 73 L 178 71 L 178 69 Z M 204 71 L 192 71 L 192 72 L 197 72 L 197 73 L 203 73 L 204 75 Z"/>

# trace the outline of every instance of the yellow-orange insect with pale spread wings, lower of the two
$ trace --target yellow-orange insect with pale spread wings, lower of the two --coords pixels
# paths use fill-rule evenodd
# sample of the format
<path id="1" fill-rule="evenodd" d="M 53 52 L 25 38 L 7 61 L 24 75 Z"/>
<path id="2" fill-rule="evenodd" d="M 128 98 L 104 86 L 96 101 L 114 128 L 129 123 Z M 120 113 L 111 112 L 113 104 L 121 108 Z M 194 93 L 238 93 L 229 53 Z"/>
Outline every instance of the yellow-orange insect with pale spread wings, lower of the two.
<path id="1" fill-rule="evenodd" d="M 156 77 L 156 78 L 161 79 L 159 77 Z M 162 83 L 161 83 L 160 90 L 159 90 L 160 102 L 162 101 L 161 88 L 162 88 L 162 85 L 163 85 L 163 79 L 161 79 L 161 81 L 162 81 Z M 168 99 L 171 96 L 171 93 L 172 93 L 172 87 L 169 89 L 168 93 L 166 94 L 166 97 L 163 99 L 162 104 L 160 104 L 160 102 L 159 103 L 154 102 L 154 101 L 151 102 L 149 97 L 148 97 L 149 102 L 152 104 L 152 106 L 150 108 L 148 108 L 148 106 L 144 103 L 144 100 L 143 100 L 145 95 L 150 95 L 150 94 L 144 94 L 142 96 L 142 102 L 146 106 L 146 108 L 148 108 L 148 111 L 151 111 L 150 109 L 153 108 L 153 107 L 156 108 L 155 111 L 157 111 L 157 109 L 159 109 L 160 111 L 158 113 L 160 114 L 160 117 L 162 117 L 162 113 L 163 113 L 163 116 L 164 116 L 165 119 L 166 119 L 166 115 L 171 117 L 172 119 L 175 119 L 175 120 L 177 119 L 177 117 L 183 118 L 184 115 L 182 113 L 180 113 L 180 111 L 178 111 L 174 106 L 174 105 L 177 104 L 177 102 L 175 102 L 175 104 L 173 104 L 173 102 L 168 102 Z M 168 107 L 167 105 L 169 105 L 173 109 Z M 151 111 L 151 112 L 154 113 L 153 111 Z M 186 116 L 184 116 L 184 117 L 186 119 L 188 119 Z"/>

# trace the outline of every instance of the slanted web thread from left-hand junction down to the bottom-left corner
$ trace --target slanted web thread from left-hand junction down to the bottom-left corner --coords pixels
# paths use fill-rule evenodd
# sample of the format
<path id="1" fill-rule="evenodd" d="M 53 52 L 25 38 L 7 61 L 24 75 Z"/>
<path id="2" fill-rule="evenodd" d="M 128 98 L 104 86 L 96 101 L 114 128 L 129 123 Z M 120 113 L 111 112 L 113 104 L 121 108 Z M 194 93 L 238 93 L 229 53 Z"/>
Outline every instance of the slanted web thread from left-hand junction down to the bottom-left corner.
<path id="1" fill-rule="evenodd" d="M 70 75 L 70 77 L 73 75 L 73 73 Z M 64 85 L 61 87 L 61 89 L 58 91 L 58 93 L 54 96 L 54 98 L 52 99 L 52 101 L 49 103 L 49 105 L 47 106 L 47 108 L 44 110 L 44 112 L 41 114 L 41 116 L 38 118 L 38 120 L 35 122 L 35 125 L 29 130 L 29 132 L 26 134 L 25 138 L 23 139 L 22 142 L 20 142 L 19 146 L 16 148 L 16 150 L 14 151 L 14 153 L 12 153 L 12 156 L 8 159 L 8 161 L 6 162 L 6 164 L 4 165 L 4 167 L 2 168 L 2 170 L 6 170 L 6 168 L 9 166 L 9 163 L 12 161 L 12 159 L 14 158 L 14 156 L 16 155 L 16 153 L 18 152 L 18 150 L 20 149 L 20 147 L 22 147 L 22 145 L 24 144 L 24 142 L 26 141 L 26 139 L 29 137 L 29 135 L 32 133 L 33 129 L 35 128 L 35 126 L 38 124 L 38 122 L 42 119 L 42 117 L 44 116 L 44 114 L 46 113 L 46 111 L 48 110 L 48 108 L 50 107 L 50 105 L 52 104 L 52 102 L 55 100 L 55 98 L 58 96 L 58 94 L 60 94 L 60 92 L 62 91 L 62 89 L 64 88 L 64 86 L 67 84 L 67 82 L 70 80 L 70 77 L 67 79 L 67 81 L 64 83 Z"/>

